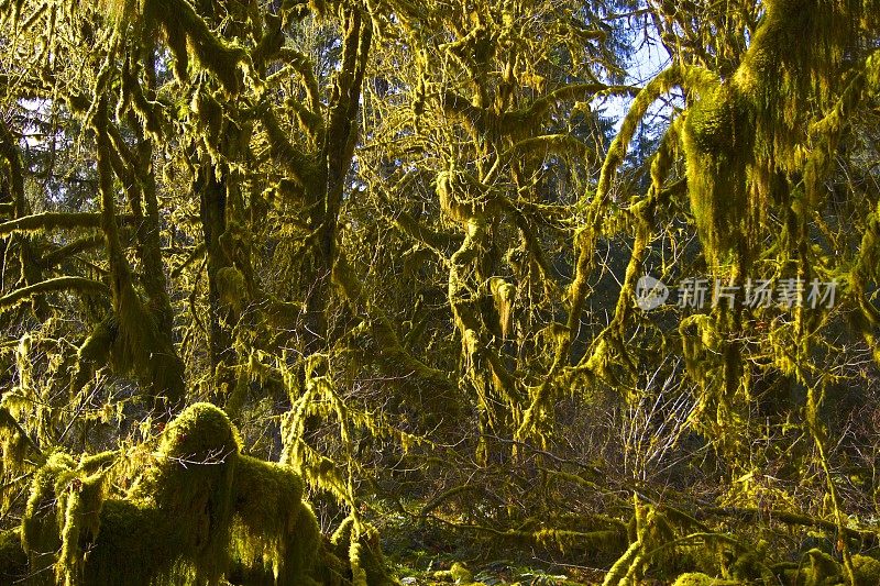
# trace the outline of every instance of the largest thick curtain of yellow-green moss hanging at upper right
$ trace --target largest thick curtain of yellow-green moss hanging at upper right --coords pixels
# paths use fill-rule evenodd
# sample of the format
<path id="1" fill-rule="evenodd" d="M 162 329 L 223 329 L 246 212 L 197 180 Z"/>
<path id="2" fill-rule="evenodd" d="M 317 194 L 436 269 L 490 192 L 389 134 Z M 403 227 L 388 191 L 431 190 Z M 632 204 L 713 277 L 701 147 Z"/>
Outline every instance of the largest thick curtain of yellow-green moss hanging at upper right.
<path id="1" fill-rule="evenodd" d="M 789 204 L 780 194 L 787 178 L 805 169 L 807 199 L 818 203 L 815 186 L 832 157 L 828 141 L 807 140 L 811 115 L 835 108 L 847 55 L 871 10 L 858 0 L 780 0 L 765 8 L 736 73 L 688 88 L 688 188 L 701 241 L 715 266 L 746 268 L 768 203 Z M 811 150 L 814 155 L 805 165 Z"/>

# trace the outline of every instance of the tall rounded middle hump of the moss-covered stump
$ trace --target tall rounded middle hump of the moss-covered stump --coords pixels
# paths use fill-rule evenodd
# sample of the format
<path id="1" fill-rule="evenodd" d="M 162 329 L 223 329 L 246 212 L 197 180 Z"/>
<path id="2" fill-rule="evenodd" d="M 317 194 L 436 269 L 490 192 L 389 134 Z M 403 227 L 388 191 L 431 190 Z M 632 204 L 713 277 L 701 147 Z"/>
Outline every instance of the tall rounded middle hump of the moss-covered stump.
<path id="1" fill-rule="evenodd" d="M 87 582 L 217 584 L 229 567 L 239 450 L 238 432 L 216 407 L 197 403 L 178 416 L 130 500 L 105 502 Z"/>

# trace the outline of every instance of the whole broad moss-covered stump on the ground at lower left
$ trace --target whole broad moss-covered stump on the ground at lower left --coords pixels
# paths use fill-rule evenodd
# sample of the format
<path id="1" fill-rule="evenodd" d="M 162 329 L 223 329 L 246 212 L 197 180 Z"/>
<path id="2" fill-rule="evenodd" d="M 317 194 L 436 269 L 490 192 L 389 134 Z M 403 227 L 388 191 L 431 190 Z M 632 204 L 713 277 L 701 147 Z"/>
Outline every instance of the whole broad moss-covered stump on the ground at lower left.
<path id="1" fill-rule="evenodd" d="M 241 453 L 226 413 L 197 403 L 162 433 L 128 491 L 109 498 L 106 456 L 52 455 L 21 531 L 0 534 L 0 582 L 95 585 L 392 584 L 375 531 L 331 542 L 288 466 Z M 11 583 L 11 582 L 10 582 Z"/>

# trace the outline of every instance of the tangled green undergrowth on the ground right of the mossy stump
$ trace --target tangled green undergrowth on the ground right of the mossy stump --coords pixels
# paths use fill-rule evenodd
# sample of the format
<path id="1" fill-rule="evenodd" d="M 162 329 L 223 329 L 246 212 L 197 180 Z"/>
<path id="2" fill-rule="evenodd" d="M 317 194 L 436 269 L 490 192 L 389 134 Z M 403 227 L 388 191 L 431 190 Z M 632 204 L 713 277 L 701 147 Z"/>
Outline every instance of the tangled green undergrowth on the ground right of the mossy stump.
<path id="1" fill-rule="evenodd" d="M 727 523 L 716 532 L 674 509 L 647 506 L 640 515 L 641 529 L 630 520 L 623 543 L 608 542 L 605 551 L 598 543 L 572 549 L 570 543 L 527 542 L 528 531 L 502 530 L 499 523 L 474 531 L 472 522 L 440 510 L 430 519 L 387 512 L 381 529 L 397 577 L 411 586 L 880 584 L 880 561 L 873 556 L 877 548 L 867 534 L 850 539 L 853 551 L 864 552 L 850 557 L 850 582 L 839 542 L 821 532 Z M 584 527 L 591 522 L 583 519 Z M 697 527 L 683 530 L 683 524 Z M 532 531 L 542 532 L 547 530 Z M 761 538 L 770 534 L 777 539 Z M 780 534 L 792 541 L 779 539 Z M 789 549 L 799 542 L 798 551 Z"/>

